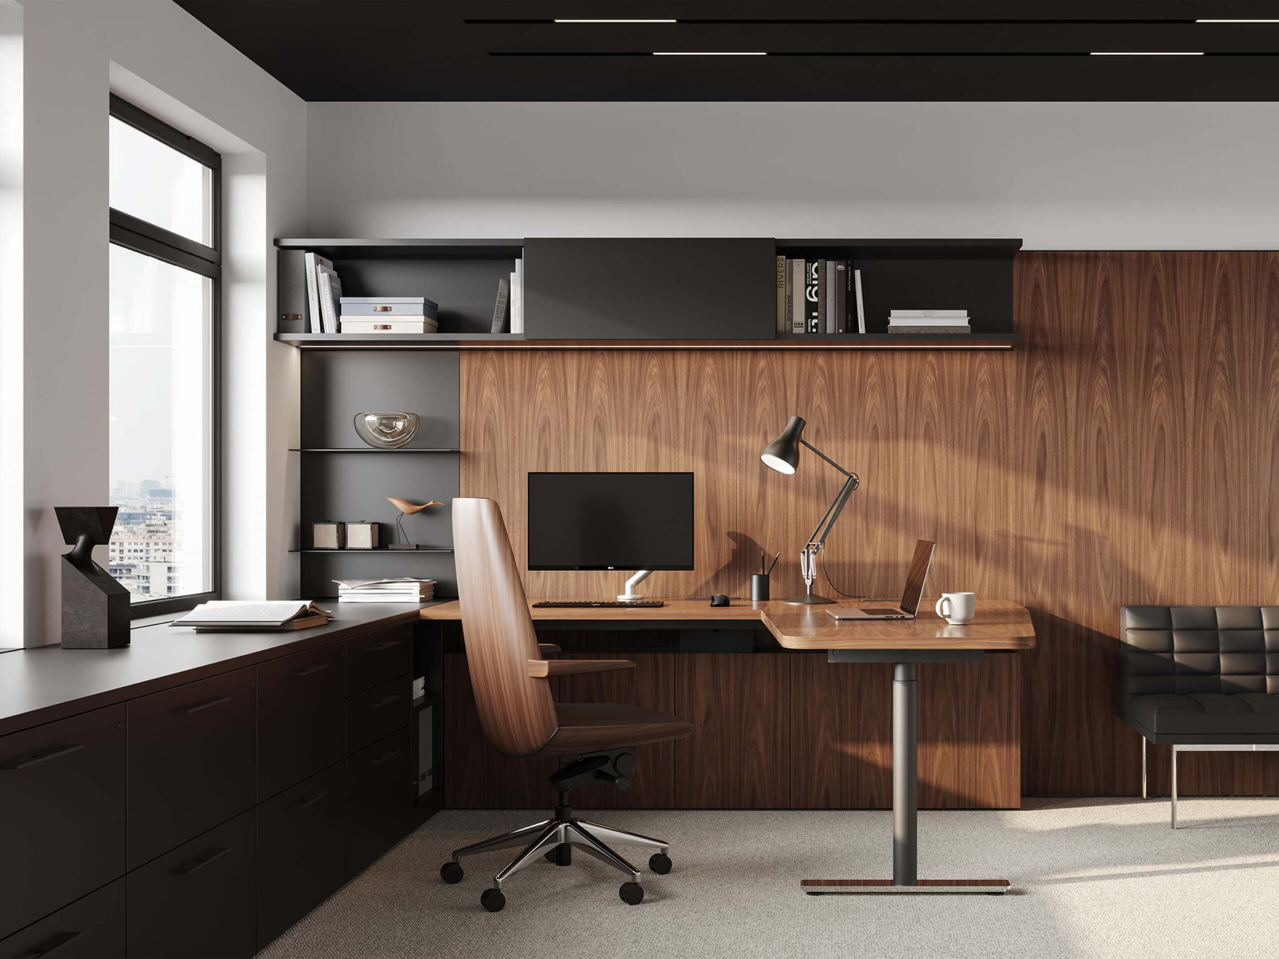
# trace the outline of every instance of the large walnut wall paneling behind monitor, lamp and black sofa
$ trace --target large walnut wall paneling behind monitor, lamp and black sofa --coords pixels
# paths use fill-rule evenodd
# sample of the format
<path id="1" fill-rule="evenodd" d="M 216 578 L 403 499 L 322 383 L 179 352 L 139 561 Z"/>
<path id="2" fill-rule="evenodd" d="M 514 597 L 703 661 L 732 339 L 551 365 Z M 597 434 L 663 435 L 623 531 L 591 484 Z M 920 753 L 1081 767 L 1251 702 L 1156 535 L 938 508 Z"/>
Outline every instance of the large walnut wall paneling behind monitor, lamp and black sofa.
<path id="1" fill-rule="evenodd" d="M 758 462 L 798 413 L 806 439 L 862 477 L 828 542 L 835 584 L 894 596 L 913 541 L 935 538 L 927 592 L 1007 596 L 1039 633 L 1019 680 L 987 661 L 948 696 L 1016 702 L 1021 682 L 1024 793 L 1134 794 L 1140 743 L 1114 708 L 1119 606 L 1279 598 L 1279 253 L 1022 253 L 1016 322 L 1026 343 L 1008 353 L 464 353 L 462 495 L 503 505 L 523 559 L 528 471 L 692 469 L 697 572 L 657 573 L 648 592 L 744 595 L 764 549 L 783 551 L 773 595 L 787 596 L 839 486 L 813 456 L 792 477 Z M 524 577 L 545 596 L 619 582 Z M 1007 756 L 1007 730 L 977 721 L 993 724 L 984 754 Z M 874 756 L 877 735 L 854 753 Z M 949 753 L 938 762 L 954 768 L 930 775 L 964 784 L 967 760 Z M 848 771 L 812 779 L 813 756 L 793 762 L 796 795 L 815 804 L 871 788 Z M 986 781 L 986 800 L 1005 804 L 1016 771 Z M 1279 756 L 1191 757 L 1181 786 L 1276 793 Z"/>

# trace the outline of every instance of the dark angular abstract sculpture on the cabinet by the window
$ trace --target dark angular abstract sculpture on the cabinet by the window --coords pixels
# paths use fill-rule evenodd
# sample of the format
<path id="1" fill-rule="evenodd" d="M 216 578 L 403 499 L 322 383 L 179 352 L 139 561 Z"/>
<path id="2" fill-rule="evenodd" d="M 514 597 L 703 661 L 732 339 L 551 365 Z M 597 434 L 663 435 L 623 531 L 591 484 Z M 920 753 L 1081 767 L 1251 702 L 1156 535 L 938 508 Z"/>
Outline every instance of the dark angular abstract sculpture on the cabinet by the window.
<path id="1" fill-rule="evenodd" d="M 116 506 L 54 506 L 63 540 L 63 648 L 114 650 L 129 644 L 129 591 L 93 561 L 111 538 Z"/>

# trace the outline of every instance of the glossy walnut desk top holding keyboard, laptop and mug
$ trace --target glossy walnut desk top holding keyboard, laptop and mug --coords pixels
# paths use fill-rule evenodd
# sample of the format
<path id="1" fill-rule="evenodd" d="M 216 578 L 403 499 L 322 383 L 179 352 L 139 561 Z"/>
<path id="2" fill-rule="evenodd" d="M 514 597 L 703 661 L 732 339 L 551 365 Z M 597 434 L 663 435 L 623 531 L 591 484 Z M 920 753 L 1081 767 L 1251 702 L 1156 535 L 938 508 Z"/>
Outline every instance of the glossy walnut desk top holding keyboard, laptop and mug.
<path id="1" fill-rule="evenodd" d="M 711 606 L 709 600 L 665 600 L 664 606 L 530 607 L 533 620 L 555 621 L 762 621 L 788 650 L 1030 650 L 1035 627 L 1030 612 L 1012 600 L 977 600 L 977 618 L 966 627 L 953 627 L 938 616 L 936 598 L 920 604 L 920 615 L 908 620 L 838 621 L 826 615 L 830 606 L 789 606 L 781 600 L 734 601 Z M 853 605 L 852 600 L 838 604 Z M 883 602 L 866 604 L 883 606 Z M 422 619 L 457 620 L 457 600 L 423 609 Z"/>

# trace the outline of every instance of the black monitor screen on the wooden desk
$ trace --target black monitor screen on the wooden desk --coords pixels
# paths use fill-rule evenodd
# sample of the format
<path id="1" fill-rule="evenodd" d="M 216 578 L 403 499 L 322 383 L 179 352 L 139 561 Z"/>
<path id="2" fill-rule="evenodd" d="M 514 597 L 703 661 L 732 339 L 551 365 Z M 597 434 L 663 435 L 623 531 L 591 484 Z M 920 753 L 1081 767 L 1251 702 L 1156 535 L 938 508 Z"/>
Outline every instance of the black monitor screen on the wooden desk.
<path id="1" fill-rule="evenodd" d="M 530 473 L 530 569 L 692 569 L 692 473 Z"/>

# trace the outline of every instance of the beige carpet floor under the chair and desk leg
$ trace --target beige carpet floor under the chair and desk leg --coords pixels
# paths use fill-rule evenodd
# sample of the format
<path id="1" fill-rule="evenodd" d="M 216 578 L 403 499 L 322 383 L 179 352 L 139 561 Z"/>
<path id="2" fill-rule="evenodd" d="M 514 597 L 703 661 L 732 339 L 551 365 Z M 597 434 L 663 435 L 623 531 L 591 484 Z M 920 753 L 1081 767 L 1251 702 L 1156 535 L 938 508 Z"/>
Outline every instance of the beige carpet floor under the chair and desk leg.
<path id="1" fill-rule="evenodd" d="M 480 893 L 510 858 L 451 849 L 523 825 L 524 811 L 443 812 L 261 955 L 321 956 L 1275 956 L 1279 799 L 1030 799 L 1016 812 L 920 815 L 921 877 L 1008 878 L 998 896 L 806 896 L 808 877 L 886 877 L 888 812 L 582 812 L 661 836 L 675 868 L 620 873 L 585 855 Z M 647 863 L 638 846 L 618 846 Z"/>

